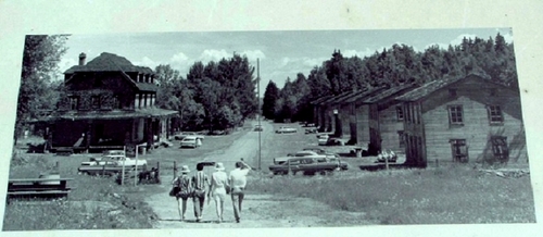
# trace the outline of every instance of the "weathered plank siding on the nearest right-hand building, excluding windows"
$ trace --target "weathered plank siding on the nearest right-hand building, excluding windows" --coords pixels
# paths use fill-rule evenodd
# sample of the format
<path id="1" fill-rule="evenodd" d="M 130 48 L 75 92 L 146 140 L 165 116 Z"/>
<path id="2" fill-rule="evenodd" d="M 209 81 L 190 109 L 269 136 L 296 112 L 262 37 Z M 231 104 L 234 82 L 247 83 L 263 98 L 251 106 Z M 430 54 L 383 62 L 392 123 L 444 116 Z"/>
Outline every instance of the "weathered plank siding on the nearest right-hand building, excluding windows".
<path id="1" fill-rule="evenodd" d="M 449 89 L 456 90 L 456 96 L 451 96 Z M 464 80 L 449 89 L 435 91 L 422 102 L 428 161 L 452 161 L 451 139 L 466 140 L 468 162 L 481 161 L 493 155 L 491 136 L 507 137 L 509 159 L 527 159 L 518 93 L 480 80 Z M 496 91 L 495 96 L 490 95 L 492 89 Z M 490 124 L 488 105 L 491 104 L 502 108 L 503 124 Z M 450 125 L 449 105 L 462 105 L 463 125 Z M 413 134 L 412 129 L 409 133 Z"/>

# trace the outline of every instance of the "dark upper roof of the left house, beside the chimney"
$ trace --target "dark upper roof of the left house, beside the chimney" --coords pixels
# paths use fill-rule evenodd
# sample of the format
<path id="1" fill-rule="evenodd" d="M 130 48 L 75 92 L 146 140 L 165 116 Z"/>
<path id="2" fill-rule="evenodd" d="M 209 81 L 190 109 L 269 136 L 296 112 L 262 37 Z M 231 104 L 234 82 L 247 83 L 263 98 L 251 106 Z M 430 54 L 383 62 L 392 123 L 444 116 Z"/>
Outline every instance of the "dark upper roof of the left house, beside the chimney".
<path id="1" fill-rule="evenodd" d="M 75 65 L 66 70 L 64 74 L 73 74 L 77 72 L 125 72 L 125 73 L 143 73 L 154 74 L 147 66 L 135 66 L 124 57 L 119 57 L 109 52 L 102 52 L 99 57 L 92 59 L 85 65 Z"/>

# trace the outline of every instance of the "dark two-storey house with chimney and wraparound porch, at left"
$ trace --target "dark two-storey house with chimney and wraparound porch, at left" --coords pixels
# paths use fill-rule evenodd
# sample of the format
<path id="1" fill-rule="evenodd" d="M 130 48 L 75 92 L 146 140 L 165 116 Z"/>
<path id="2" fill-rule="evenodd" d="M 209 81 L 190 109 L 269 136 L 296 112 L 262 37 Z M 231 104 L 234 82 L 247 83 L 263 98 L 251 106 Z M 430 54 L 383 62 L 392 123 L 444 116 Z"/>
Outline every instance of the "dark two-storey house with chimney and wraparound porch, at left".
<path id="1" fill-rule="evenodd" d="M 64 73 L 65 95 L 47 116 L 50 150 L 100 151 L 147 142 L 149 149 L 172 135 L 177 111 L 155 107 L 155 75 L 123 57 L 103 52 Z"/>

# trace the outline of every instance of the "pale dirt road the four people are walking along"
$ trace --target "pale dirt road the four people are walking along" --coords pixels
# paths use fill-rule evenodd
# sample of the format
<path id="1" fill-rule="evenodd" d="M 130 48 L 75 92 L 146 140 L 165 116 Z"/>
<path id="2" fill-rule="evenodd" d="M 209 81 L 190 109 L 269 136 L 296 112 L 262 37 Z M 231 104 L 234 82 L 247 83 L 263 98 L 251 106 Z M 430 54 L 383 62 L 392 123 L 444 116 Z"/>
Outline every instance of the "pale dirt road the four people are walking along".
<path id="1" fill-rule="evenodd" d="M 256 122 L 253 122 L 256 124 Z M 262 122 L 264 132 L 261 134 L 262 142 L 270 137 L 273 126 L 267 122 Z M 268 141 L 269 142 L 269 141 Z M 257 164 L 258 150 L 258 133 L 249 132 L 232 146 L 224 151 L 216 151 L 206 155 L 204 161 L 223 162 L 228 173 L 233 169 L 235 162 L 240 158 L 249 164 Z M 262 154 L 264 157 L 264 154 Z M 263 166 L 264 167 L 264 166 Z M 172 176 L 164 176 L 163 180 L 171 180 Z M 250 182 L 250 180 L 249 180 Z M 169 188 L 169 184 L 162 185 L 165 190 Z M 351 220 L 355 223 L 363 223 L 364 213 L 348 213 L 331 210 L 323 203 L 311 199 L 301 198 L 283 198 L 269 195 L 253 195 L 247 194 L 243 202 L 243 212 L 241 223 L 233 221 L 233 212 L 231 201 L 225 202 L 224 221 L 218 224 L 215 213 L 215 203 L 213 201 L 206 203 L 203 211 L 203 221 L 195 223 L 193 216 L 193 205 L 189 200 L 187 207 L 188 221 L 180 222 L 177 212 L 177 202 L 174 198 L 168 197 L 167 192 L 155 194 L 146 199 L 153 211 L 159 216 L 155 228 L 224 228 L 224 227 L 310 227 L 310 226 L 337 226 L 338 223 L 334 216 L 341 216 L 341 220 Z M 321 216 L 314 216 L 315 210 L 320 209 L 317 213 L 323 213 Z M 305 211 L 307 210 L 307 211 Z"/>

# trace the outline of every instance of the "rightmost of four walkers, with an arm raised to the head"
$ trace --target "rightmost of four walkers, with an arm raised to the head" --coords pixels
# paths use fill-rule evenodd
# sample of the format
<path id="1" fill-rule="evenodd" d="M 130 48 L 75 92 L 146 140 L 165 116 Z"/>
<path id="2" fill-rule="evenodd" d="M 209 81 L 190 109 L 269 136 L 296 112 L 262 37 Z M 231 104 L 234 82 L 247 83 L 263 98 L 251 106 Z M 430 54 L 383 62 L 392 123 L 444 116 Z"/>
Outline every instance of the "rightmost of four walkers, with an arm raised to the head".
<path id="1" fill-rule="evenodd" d="M 245 162 L 243 162 L 243 158 L 241 161 L 236 162 L 236 169 L 230 172 L 228 176 L 228 180 L 231 187 L 230 196 L 232 198 L 233 205 L 233 217 L 236 219 L 236 223 L 240 222 L 241 215 L 241 203 L 243 202 L 244 192 L 247 186 L 247 175 L 251 171 L 251 166 L 249 166 Z"/>

